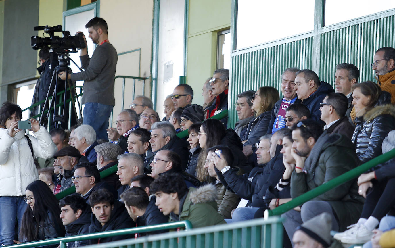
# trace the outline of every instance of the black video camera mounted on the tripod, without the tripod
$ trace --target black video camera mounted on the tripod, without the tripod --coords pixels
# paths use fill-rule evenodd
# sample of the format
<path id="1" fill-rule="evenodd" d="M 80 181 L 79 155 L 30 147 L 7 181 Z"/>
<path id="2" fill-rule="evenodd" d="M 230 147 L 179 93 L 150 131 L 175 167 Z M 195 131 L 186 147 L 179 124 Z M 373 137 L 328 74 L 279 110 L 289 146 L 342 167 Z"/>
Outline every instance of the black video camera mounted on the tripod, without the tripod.
<path id="1" fill-rule="evenodd" d="M 50 26 L 36 26 L 35 31 L 44 30 L 44 33 L 49 34 L 49 37 L 32 36 L 31 43 L 34 50 L 43 47 L 51 47 L 56 50 L 70 50 L 85 48 L 85 41 L 82 33 L 77 33 L 75 36 L 70 36 L 69 31 L 62 31 L 62 25 Z M 63 38 L 55 36 L 55 32 L 62 32 Z M 69 51 L 70 52 L 70 51 Z"/>

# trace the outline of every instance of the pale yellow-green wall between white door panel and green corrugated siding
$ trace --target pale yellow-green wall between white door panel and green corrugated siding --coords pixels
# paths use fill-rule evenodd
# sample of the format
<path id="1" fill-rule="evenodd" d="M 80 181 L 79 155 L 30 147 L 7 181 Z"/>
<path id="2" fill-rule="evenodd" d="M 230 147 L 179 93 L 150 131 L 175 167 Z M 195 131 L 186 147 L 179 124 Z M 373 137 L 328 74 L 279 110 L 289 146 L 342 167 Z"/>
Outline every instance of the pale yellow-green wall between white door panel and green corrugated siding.
<path id="1" fill-rule="evenodd" d="M 216 31 L 229 28 L 230 17 L 231 0 L 189 2 L 186 83 L 194 90 L 193 103 L 203 104 L 203 83 L 216 69 Z"/>

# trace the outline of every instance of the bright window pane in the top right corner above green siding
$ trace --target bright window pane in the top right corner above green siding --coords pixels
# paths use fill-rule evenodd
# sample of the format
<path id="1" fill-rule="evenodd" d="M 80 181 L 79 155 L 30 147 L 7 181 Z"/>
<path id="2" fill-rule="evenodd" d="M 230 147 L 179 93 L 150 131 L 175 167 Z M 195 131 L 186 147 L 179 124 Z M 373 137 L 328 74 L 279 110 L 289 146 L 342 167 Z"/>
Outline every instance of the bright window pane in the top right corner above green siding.
<path id="1" fill-rule="evenodd" d="M 395 8 L 389 0 L 327 0 L 325 1 L 325 26 L 348 21 L 364 15 Z"/>

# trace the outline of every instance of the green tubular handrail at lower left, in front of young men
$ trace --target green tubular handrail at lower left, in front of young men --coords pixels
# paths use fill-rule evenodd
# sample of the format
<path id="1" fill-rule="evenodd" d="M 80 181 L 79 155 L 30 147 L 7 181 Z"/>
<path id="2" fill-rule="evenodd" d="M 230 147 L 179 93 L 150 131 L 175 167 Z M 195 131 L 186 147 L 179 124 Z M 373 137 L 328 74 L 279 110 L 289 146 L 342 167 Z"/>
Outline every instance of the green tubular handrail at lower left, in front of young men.
<path id="1" fill-rule="evenodd" d="M 167 230 L 167 229 L 173 229 L 173 228 L 178 228 L 178 227 L 185 227 L 185 231 L 188 231 L 188 230 L 192 229 L 192 224 L 189 220 L 182 220 L 182 221 L 171 222 L 171 223 L 166 223 L 166 224 L 147 225 L 147 226 L 143 226 L 143 227 L 132 227 L 132 228 L 126 228 L 126 229 L 113 230 L 113 231 L 104 231 L 104 232 L 100 232 L 100 233 L 88 233 L 88 234 L 74 235 L 74 236 L 68 236 L 68 237 L 59 237 L 59 238 L 55 238 L 55 239 L 45 239 L 45 240 L 39 240 L 39 241 L 33 241 L 33 242 L 26 242 L 26 243 L 22 243 L 22 244 L 13 244 L 13 245 L 9 245 L 7 247 L 10 247 L 10 248 L 31 248 L 31 247 L 39 247 L 39 246 L 60 243 L 60 248 L 66 248 L 67 242 L 106 238 L 106 237 L 112 237 L 115 235 L 118 236 L 118 235 L 128 235 L 128 234 L 133 234 L 133 233 L 153 232 L 153 231 Z"/>

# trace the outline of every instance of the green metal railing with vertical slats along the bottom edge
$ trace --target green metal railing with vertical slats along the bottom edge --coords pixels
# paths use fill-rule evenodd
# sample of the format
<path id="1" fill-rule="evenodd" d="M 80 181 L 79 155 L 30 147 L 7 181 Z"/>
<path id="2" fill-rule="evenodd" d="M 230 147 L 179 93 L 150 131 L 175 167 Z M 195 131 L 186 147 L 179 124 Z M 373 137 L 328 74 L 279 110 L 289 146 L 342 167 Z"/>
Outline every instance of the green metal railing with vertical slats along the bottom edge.
<path id="1" fill-rule="evenodd" d="M 282 248 L 281 218 L 254 219 L 244 222 L 201 227 L 189 231 L 126 239 L 87 248 Z"/>

